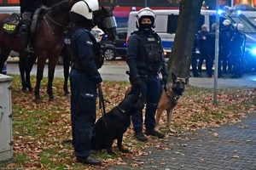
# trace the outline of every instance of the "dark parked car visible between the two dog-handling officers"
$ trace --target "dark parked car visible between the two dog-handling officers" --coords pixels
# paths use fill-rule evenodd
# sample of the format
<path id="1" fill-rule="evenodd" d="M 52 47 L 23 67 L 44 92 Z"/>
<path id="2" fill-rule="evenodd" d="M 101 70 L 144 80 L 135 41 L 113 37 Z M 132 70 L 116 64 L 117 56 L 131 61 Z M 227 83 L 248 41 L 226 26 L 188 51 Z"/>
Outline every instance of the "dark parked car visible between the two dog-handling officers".
<path id="1" fill-rule="evenodd" d="M 106 35 L 105 35 L 106 36 Z M 117 37 L 115 41 L 108 41 L 108 37 L 103 37 L 103 55 L 106 60 L 114 60 L 116 57 L 125 59 L 127 28 L 117 28 Z"/>

